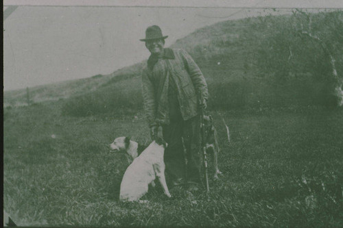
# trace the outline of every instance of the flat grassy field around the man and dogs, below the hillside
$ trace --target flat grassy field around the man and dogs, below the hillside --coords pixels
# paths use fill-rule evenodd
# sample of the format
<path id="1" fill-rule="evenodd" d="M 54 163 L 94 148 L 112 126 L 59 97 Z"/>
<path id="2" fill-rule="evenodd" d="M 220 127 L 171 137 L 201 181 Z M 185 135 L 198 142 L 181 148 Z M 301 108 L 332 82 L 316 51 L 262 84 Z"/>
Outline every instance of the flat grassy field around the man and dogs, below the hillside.
<path id="1" fill-rule="evenodd" d="M 160 187 L 120 203 L 126 158 L 117 136 L 149 141 L 141 112 L 62 116 L 62 101 L 4 110 L 3 206 L 18 225 L 343 226 L 343 111 L 220 111 L 219 181 L 202 191 Z"/>

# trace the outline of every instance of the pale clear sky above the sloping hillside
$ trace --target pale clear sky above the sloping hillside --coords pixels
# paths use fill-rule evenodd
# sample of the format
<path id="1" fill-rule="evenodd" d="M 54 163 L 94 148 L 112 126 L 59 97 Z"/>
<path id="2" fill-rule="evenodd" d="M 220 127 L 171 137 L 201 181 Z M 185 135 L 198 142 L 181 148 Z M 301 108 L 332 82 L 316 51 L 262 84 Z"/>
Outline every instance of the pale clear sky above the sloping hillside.
<path id="1" fill-rule="evenodd" d="M 130 7 L 125 7 L 123 1 L 99 0 L 96 1 L 97 6 L 94 2 L 4 1 L 3 5 L 20 6 L 3 22 L 3 89 L 15 90 L 97 74 L 106 75 L 141 62 L 148 58 L 149 52 L 139 39 L 145 37 L 145 29 L 150 25 L 159 25 L 163 35 L 169 36 L 165 44 L 168 47 L 200 27 L 275 13 L 273 10 L 263 12 L 261 8 L 278 7 L 274 1 L 263 0 L 226 1 L 231 5 L 213 1 L 211 7 L 206 5 L 209 1 L 198 1 L 198 8 L 191 8 L 191 1 L 183 1 L 187 6 L 184 8 L 173 5 L 142 7 L 150 4 L 163 6 L 167 5 L 166 1 L 126 1 L 126 6 Z M 294 4 L 298 4 L 296 7 L 343 7 L 343 3 L 340 5 L 337 1 L 328 1 L 327 5 L 322 5 L 322 1 L 307 2 L 311 4 L 301 5 L 302 1 L 294 1 Z M 141 7 L 134 7 L 137 3 L 141 3 Z M 287 7 L 282 1 L 279 6 Z M 289 9 L 283 9 L 276 13 L 289 12 Z"/>

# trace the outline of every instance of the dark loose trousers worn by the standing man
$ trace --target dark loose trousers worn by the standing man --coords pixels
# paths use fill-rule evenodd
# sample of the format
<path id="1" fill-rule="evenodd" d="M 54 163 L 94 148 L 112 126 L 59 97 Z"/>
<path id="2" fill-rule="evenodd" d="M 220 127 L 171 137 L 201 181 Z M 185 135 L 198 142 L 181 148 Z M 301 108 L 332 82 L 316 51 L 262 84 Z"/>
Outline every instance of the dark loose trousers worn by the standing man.
<path id="1" fill-rule="evenodd" d="M 163 138 L 168 147 L 165 149 L 165 170 L 171 180 L 183 179 L 188 182 L 201 181 L 201 153 L 200 153 L 200 116 L 187 121 L 182 118 L 163 125 Z M 186 149 L 182 145 L 182 138 Z M 187 158 L 187 166 L 185 164 Z"/>

